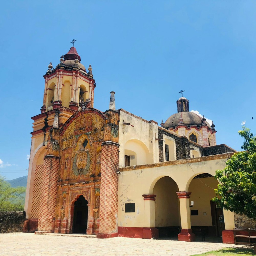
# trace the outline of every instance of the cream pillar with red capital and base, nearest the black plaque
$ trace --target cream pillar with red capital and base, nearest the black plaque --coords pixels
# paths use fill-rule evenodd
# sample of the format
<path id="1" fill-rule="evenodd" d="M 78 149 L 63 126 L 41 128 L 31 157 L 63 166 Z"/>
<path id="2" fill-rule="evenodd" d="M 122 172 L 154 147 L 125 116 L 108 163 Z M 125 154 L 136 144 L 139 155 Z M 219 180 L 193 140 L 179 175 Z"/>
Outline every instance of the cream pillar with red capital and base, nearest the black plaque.
<path id="1" fill-rule="evenodd" d="M 158 229 L 155 228 L 155 197 L 156 195 L 153 194 L 143 194 L 143 200 L 145 201 L 145 213 L 147 218 L 149 227 L 143 228 L 143 238 L 144 239 L 151 239 L 151 238 L 158 238 L 159 232 Z"/>

